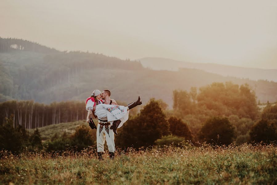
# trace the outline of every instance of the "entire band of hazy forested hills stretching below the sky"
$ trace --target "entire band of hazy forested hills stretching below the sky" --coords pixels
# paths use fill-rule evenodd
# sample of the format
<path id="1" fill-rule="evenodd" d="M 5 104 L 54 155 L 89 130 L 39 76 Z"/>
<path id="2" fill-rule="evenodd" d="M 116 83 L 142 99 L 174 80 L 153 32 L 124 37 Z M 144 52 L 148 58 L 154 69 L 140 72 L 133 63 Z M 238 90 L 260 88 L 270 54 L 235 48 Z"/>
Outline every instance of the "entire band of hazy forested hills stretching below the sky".
<path id="1" fill-rule="evenodd" d="M 13 43 L 16 44 L 16 41 Z M 19 43 L 18 43 L 19 44 Z M 20 40 L 21 48 L 30 41 Z M 141 95 L 146 103 L 150 98 L 163 99 L 173 105 L 174 89 L 189 90 L 213 82 L 248 83 L 261 102 L 277 100 L 277 83 L 249 80 L 183 68 L 179 71 L 152 70 L 140 62 L 120 60 L 102 54 L 57 51 L 34 44 L 30 51 L 5 49 L 9 45 L 0 39 L 0 100 L 29 100 L 40 103 L 81 100 L 94 89 L 110 89 L 112 98 L 127 103 Z M 42 49 L 36 49 L 42 47 Z M 20 47 L 19 47 L 20 48 Z"/>

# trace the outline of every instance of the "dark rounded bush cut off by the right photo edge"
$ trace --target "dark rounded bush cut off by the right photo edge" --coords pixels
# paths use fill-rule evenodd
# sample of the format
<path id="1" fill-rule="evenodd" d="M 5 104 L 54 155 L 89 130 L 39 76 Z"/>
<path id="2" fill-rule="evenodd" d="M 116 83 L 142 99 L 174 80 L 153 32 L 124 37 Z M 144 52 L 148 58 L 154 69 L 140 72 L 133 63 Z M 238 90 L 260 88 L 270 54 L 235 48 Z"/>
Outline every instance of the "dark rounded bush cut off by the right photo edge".
<path id="1" fill-rule="evenodd" d="M 251 141 L 270 143 L 277 140 L 277 120 L 260 120 L 250 132 Z"/>

